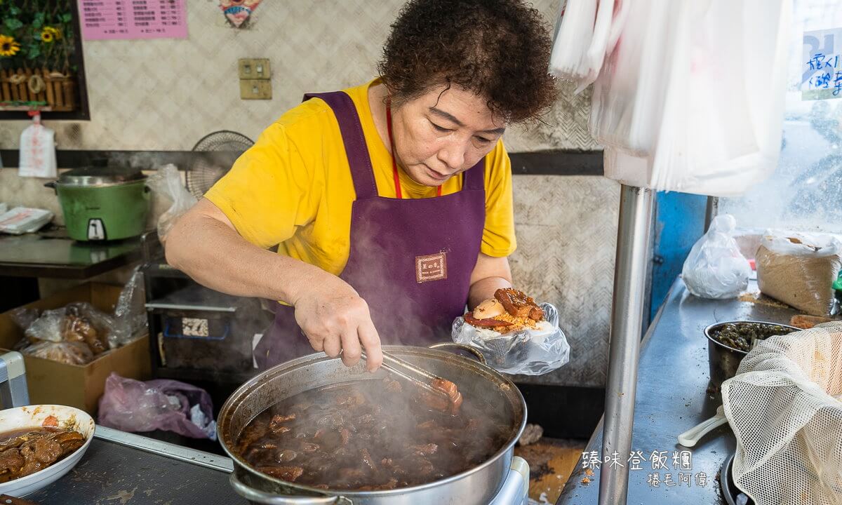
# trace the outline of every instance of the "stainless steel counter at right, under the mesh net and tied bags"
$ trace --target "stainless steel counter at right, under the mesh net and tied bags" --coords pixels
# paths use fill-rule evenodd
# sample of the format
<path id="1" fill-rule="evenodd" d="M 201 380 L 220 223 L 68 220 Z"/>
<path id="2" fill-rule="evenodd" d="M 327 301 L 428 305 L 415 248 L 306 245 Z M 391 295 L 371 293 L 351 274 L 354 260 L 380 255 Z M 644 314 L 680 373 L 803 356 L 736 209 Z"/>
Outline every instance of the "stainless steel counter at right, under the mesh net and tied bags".
<path id="1" fill-rule="evenodd" d="M 754 281 L 750 281 L 749 291 L 757 291 Z M 701 439 L 691 449 L 689 469 L 686 462 L 682 467 L 679 452 L 688 449 L 676 440 L 679 433 L 712 417 L 719 406 L 706 392 L 707 339 L 702 330 L 713 322 L 734 319 L 789 322 L 796 313 L 738 300 L 703 300 L 690 295 L 681 279 L 675 281 L 642 343 L 632 436 L 632 451 L 640 451 L 636 453 L 640 470 L 633 469 L 636 461 L 629 461 L 629 455 L 617 455 L 615 459 L 613 455 L 599 454 L 602 423 L 585 449 L 594 459 L 605 461 L 608 457 L 607 464 L 622 464 L 630 469 L 629 505 L 725 503 L 717 474 L 735 449 L 730 428 L 717 428 Z M 676 452 L 678 461 L 674 462 Z M 579 460 L 557 505 L 598 502 L 600 470 L 594 468 L 591 476 L 583 462 L 584 458 Z M 672 485 L 665 483 L 667 474 Z M 679 480 L 682 477 L 689 482 Z M 589 482 L 583 482 L 584 479 Z"/>

